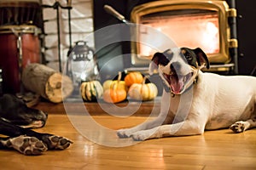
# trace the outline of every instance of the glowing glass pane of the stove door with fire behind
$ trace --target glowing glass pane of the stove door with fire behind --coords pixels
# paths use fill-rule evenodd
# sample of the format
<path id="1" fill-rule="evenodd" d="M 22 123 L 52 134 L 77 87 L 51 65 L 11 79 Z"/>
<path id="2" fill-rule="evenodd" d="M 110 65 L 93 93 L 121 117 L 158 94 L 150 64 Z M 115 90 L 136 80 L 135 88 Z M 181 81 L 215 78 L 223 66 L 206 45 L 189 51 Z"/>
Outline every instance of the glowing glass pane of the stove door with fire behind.
<path id="1" fill-rule="evenodd" d="M 172 38 L 177 47 L 202 48 L 207 54 L 219 53 L 218 12 L 200 9 L 172 10 L 146 14 L 140 24 L 151 26 Z M 139 30 L 140 36 L 147 34 Z M 140 43 L 140 54 L 152 56 L 155 51 Z"/>

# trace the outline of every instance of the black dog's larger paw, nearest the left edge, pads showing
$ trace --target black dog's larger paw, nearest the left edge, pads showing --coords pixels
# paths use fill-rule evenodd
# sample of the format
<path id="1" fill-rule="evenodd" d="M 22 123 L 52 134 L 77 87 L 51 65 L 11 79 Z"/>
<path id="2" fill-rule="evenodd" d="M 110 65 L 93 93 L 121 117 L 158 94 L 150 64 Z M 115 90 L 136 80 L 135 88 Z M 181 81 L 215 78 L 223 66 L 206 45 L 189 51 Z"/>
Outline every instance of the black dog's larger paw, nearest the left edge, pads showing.
<path id="1" fill-rule="evenodd" d="M 6 145 L 9 148 L 20 151 L 20 153 L 26 156 L 38 156 L 47 150 L 46 145 L 41 140 L 25 135 L 8 139 Z"/>

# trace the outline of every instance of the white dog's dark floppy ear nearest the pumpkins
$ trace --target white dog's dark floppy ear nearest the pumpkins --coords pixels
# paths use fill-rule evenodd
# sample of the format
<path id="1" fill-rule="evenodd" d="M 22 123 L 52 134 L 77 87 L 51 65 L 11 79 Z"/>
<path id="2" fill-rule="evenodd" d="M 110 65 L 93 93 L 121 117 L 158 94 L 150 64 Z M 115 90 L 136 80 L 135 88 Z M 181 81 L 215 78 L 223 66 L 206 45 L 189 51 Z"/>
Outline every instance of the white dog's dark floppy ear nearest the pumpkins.
<path id="1" fill-rule="evenodd" d="M 166 53 L 168 50 L 166 50 L 164 53 L 155 53 L 153 58 L 151 59 L 151 62 L 149 64 L 149 75 L 153 75 L 154 70 L 158 69 L 158 65 L 167 65 L 169 63 L 169 59 L 167 59 Z"/>

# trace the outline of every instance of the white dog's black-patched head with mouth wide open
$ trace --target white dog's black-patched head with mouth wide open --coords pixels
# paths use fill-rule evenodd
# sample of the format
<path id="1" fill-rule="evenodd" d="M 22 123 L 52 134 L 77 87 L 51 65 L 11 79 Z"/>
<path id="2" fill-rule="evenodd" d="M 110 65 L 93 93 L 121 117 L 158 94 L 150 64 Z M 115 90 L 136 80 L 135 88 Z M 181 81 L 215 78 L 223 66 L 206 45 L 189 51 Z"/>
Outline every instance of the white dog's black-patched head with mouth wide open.
<path id="1" fill-rule="evenodd" d="M 158 69 L 166 91 L 183 94 L 189 88 L 201 68 L 210 67 L 207 55 L 201 48 L 173 48 L 154 54 L 149 65 L 149 74 Z"/>

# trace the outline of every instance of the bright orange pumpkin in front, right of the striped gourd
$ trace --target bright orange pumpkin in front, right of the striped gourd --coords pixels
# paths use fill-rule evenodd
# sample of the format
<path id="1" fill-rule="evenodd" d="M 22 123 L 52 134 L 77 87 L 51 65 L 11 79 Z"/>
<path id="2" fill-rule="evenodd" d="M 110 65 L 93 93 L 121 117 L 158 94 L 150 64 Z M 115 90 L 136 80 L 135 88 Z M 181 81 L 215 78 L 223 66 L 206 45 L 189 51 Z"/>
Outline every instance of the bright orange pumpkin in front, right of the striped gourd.
<path id="1" fill-rule="evenodd" d="M 127 92 L 124 86 L 120 85 L 121 73 L 116 83 L 106 88 L 103 93 L 103 100 L 108 103 L 119 103 L 126 99 Z"/>

